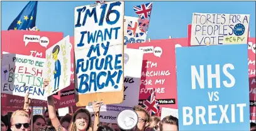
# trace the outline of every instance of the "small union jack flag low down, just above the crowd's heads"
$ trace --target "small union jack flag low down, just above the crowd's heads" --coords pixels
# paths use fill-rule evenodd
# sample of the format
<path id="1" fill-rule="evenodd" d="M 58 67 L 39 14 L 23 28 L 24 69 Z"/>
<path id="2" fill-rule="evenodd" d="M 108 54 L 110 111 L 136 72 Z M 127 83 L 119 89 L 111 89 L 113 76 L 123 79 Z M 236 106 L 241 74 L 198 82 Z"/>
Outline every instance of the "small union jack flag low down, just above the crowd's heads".
<path id="1" fill-rule="evenodd" d="M 157 115 L 159 116 L 159 102 L 155 99 L 155 92 L 152 92 L 151 95 L 145 100 L 145 102 L 142 105 L 143 108 L 145 108 L 149 115 Z"/>

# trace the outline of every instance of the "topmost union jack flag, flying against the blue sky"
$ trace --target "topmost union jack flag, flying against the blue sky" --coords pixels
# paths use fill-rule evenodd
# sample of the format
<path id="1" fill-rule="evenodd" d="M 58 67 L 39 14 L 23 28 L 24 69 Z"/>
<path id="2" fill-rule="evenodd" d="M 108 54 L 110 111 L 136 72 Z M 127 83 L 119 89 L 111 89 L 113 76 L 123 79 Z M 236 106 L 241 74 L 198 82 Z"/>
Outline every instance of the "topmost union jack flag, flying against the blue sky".
<path id="1" fill-rule="evenodd" d="M 141 19 L 150 18 L 153 3 L 142 4 L 140 6 L 134 6 L 133 10 Z"/>

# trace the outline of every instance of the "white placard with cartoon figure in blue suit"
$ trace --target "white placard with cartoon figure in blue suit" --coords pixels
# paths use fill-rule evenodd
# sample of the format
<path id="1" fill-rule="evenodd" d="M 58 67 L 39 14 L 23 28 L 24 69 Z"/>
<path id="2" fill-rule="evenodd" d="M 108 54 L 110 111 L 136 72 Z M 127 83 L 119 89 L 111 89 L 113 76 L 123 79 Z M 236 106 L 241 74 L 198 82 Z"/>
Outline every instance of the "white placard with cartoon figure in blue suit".
<path id="1" fill-rule="evenodd" d="M 46 51 L 47 79 L 50 81 L 45 89 L 47 96 L 57 93 L 70 85 L 70 54 L 69 36 L 66 36 Z"/>

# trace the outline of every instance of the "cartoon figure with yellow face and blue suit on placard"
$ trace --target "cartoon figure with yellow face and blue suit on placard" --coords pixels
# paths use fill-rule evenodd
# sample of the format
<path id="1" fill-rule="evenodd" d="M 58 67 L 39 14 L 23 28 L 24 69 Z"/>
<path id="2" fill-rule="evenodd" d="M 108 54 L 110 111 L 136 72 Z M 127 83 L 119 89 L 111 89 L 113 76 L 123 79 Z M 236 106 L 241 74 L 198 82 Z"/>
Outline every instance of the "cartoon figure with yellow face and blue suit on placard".
<path id="1" fill-rule="evenodd" d="M 57 45 L 52 50 L 52 58 L 53 58 L 53 60 L 55 60 L 55 64 L 54 64 L 55 68 L 53 70 L 53 75 L 54 75 L 54 80 L 55 80 L 53 92 L 58 90 L 58 86 L 60 84 L 61 65 L 60 65 L 60 60 L 58 60 L 59 52 L 60 52 L 60 46 Z M 58 82 L 57 82 L 57 80 L 58 80 Z M 56 84 L 57 84 L 57 88 L 56 88 Z"/>

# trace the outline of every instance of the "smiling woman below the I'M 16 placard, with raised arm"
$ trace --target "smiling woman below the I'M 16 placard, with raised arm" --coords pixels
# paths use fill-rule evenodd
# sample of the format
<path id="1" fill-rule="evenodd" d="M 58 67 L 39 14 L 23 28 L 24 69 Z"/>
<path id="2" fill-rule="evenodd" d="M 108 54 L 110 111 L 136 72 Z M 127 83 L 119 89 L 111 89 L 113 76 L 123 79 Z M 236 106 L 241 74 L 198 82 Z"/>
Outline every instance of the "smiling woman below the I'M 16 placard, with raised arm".
<path id="1" fill-rule="evenodd" d="M 48 84 L 49 84 L 49 81 L 45 79 L 43 81 L 43 88 L 48 86 Z M 56 111 L 55 106 L 53 103 L 53 96 L 52 95 L 49 96 L 47 98 L 47 101 L 48 101 L 48 114 L 53 127 L 55 127 L 55 129 L 58 131 L 66 131 L 66 129 L 62 127 L 62 125 L 60 124 L 60 121 L 57 118 L 57 115 L 55 112 Z M 92 120 L 91 120 L 90 112 L 86 108 L 79 108 L 78 110 L 75 111 L 72 117 L 72 123 L 70 124 L 69 131 L 92 130 L 91 123 L 92 123 Z M 97 127 L 97 125 L 95 125 L 95 121 L 94 121 L 94 126 Z"/>

